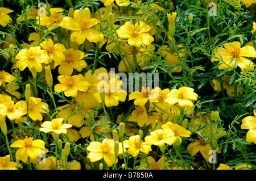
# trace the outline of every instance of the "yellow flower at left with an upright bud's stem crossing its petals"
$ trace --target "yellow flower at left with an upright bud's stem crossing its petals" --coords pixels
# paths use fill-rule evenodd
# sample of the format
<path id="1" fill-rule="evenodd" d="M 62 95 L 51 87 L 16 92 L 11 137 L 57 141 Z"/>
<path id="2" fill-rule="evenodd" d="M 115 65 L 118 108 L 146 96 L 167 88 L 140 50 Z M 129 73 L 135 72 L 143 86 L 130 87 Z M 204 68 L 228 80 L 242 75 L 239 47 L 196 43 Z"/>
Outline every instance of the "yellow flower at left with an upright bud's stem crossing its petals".
<path id="1" fill-rule="evenodd" d="M 40 98 L 34 98 L 34 97 L 30 97 L 30 100 L 28 102 L 28 116 L 33 120 L 39 120 L 42 121 L 43 120 L 43 116 L 42 113 L 46 113 L 46 111 L 43 110 L 46 109 L 48 110 L 48 104 L 41 102 L 42 99 Z M 23 111 L 23 115 L 27 114 L 27 102 L 25 100 L 20 100 L 18 103 L 15 104 L 16 107 L 18 107 L 19 109 L 21 109 Z"/>

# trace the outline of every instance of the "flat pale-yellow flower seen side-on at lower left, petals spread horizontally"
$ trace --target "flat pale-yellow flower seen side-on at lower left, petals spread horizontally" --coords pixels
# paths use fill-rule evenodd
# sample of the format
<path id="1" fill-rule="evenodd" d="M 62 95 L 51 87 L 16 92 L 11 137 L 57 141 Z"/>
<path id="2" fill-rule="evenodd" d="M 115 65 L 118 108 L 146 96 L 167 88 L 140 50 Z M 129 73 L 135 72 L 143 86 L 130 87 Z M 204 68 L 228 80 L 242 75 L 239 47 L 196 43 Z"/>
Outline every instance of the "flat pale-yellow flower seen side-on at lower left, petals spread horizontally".
<path id="1" fill-rule="evenodd" d="M 52 121 L 44 121 L 43 124 L 41 124 L 41 127 L 39 131 L 42 131 L 44 133 L 54 132 L 56 134 L 67 133 L 67 129 L 71 128 L 71 124 L 63 124 L 63 118 L 56 118 Z"/>

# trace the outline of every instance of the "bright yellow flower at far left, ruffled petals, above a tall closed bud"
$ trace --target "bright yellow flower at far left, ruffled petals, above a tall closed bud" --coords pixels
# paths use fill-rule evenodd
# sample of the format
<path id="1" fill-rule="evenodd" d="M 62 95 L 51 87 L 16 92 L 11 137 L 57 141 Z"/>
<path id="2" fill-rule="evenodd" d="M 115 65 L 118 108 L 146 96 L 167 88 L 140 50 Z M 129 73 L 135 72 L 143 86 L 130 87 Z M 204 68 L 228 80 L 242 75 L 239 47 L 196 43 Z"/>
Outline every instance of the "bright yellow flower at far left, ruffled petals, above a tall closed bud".
<path id="1" fill-rule="evenodd" d="M 30 71 L 32 66 L 35 67 L 36 71 L 42 71 L 42 64 L 48 64 L 49 57 L 45 50 L 42 50 L 41 47 L 31 47 L 30 49 L 22 49 L 15 57 L 17 60 L 16 65 L 18 68 L 23 71 L 28 67 Z"/>

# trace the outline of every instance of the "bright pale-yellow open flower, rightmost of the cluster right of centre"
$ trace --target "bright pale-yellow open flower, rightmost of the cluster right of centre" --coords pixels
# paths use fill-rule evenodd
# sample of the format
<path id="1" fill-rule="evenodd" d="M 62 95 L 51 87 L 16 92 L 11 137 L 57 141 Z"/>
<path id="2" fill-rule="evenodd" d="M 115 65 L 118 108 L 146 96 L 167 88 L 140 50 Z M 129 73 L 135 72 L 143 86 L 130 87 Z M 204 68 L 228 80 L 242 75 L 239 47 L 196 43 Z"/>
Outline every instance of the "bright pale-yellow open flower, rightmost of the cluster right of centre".
<path id="1" fill-rule="evenodd" d="M 169 98 L 164 100 L 164 102 L 170 105 L 178 103 L 180 107 L 192 107 L 193 101 L 197 100 L 198 97 L 193 91 L 190 87 L 180 87 L 179 90 L 173 89 L 167 94 Z"/>

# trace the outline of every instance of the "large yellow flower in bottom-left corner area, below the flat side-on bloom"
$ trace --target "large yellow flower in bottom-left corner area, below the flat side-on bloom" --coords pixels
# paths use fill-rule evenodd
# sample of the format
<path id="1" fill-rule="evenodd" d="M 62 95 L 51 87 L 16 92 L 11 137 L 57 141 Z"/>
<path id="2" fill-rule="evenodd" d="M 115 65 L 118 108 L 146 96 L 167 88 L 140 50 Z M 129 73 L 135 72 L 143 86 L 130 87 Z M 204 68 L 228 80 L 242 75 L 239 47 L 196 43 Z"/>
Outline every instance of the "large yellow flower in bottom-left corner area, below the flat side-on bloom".
<path id="1" fill-rule="evenodd" d="M 28 157 L 31 159 L 36 159 L 42 155 L 43 151 L 46 153 L 48 150 L 44 148 L 45 142 L 43 140 L 33 140 L 32 137 L 25 137 L 24 140 L 14 141 L 13 144 L 10 145 L 11 148 L 19 148 L 16 150 L 16 158 L 27 162 Z M 43 151 L 42 151 L 43 150 Z"/>

